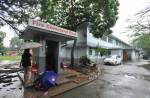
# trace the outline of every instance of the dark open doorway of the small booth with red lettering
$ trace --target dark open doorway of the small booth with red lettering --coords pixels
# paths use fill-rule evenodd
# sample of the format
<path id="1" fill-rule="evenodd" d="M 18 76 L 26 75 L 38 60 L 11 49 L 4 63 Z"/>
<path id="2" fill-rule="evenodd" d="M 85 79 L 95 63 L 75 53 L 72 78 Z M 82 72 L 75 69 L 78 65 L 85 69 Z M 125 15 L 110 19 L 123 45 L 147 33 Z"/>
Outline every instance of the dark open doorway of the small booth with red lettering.
<path id="1" fill-rule="evenodd" d="M 57 73 L 59 44 L 55 41 L 46 41 L 46 70 Z"/>

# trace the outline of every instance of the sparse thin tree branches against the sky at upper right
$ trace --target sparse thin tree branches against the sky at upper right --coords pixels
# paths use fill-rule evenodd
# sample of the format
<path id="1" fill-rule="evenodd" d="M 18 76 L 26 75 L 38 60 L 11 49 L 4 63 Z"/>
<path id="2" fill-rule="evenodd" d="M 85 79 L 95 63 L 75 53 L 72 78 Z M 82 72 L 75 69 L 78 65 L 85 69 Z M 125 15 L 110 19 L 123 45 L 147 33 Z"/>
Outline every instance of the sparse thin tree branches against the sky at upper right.
<path id="1" fill-rule="evenodd" d="M 149 2 L 150 4 L 150 2 Z M 130 31 L 133 31 L 133 34 L 130 34 L 132 36 L 139 36 L 144 34 L 150 33 L 150 6 L 145 7 L 141 11 L 135 14 L 135 17 L 133 19 L 129 19 L 130 25 L 128 26 L 128 29 Z"/>

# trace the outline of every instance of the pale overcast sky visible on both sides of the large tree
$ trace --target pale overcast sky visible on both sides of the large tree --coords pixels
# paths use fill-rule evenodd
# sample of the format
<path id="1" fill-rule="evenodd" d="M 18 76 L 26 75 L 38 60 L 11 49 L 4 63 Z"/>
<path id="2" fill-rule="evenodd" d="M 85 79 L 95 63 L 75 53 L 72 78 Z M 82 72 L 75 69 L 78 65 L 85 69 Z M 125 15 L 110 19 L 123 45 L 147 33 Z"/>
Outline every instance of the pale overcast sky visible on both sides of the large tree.
<path id="1" fill-rule="evenodd" d="M 127 36 L 127 33 L 123 33 L 126 32 L 126 27 L 129 25 L 129 23 L 127 23 L 127 19 L 130 19 L 135 15 L 135 13 L 146 7 L 147 2 L 150 2 L 150 0 L 119 0 L 119 19 L 117 20 L 116 25 L 112 28 L 113 35 L 124 42 L 129 43 L 131 38 Z M 6 33 L 4 45 L 9 46 L 10 39 L 16 36 L 14 31 L 8 26 L 0 28 L 0 31 L 4 31 Z"/>

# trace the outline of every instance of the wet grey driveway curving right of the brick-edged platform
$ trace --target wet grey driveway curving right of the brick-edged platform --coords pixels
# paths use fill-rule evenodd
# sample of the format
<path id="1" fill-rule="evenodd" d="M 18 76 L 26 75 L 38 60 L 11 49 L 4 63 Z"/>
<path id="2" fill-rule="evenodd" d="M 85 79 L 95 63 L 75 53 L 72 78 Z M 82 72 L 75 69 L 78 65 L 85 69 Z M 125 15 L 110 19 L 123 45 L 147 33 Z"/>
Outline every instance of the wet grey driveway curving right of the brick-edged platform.
<path id="1" fill-rule="evenodd" d="M 143 64 L 100 65 L 103 74 L 96 81 L 54 98 L 150 98 L 150 71 Z"/>

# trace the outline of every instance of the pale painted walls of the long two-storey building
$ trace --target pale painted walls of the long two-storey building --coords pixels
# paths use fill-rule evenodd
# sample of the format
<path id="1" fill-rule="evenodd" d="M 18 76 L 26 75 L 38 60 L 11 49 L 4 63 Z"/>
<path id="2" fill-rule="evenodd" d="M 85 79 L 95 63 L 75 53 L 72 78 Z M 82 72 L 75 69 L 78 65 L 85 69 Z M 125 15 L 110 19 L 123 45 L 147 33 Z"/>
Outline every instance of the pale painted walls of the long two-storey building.
<path id="1" fill-rule="evenodd" d="M 129 48 L 129 45 L 125 44 L 122 42 L 120 39 L 116 38 L 115 36 L 109 35 L 106 36 L 106 40 L 102 38 L 95 38 L 93 35 L 90 33 L 90 28 L 89 26 L 86 26 L 87 24 L 81 25 L 80 28 L 78 28 L 78 37 L 77 37 L 77 44 L 79 43 L 85 43 L 87 47 L 85 48 L 79 48 L 77 47 L 75 49 L 74 57 L 75 59 L 79 59 L 81 56 L 87 55 L 92 61 L 100 61 L 103 59 L 100 55 L 95 55 L 95 47 L 99 44 L 99 46 L 106 48 L 106 49 L 112 49 L 111 54 L 112 55 L 120 55 L 123 58 L 123 50 Z M 111 41 L 110 41 L 111 40 Z M 69 44 L 73 44 L 73 41 L 69 41 Z M 89 49 L 92 49 L 92 55 L 89 55 Z M 119 48 L 117 50 L 113 50 L 113 48 Z M 70 58 L 70 53 L 71 53 L 71 48 L 64 48 L 62 50 L 62 55 L 64 58 Z M 129 52 L 129 56 L 131 59 L 136 59 L 136 55 L 134 52 Z"/>

